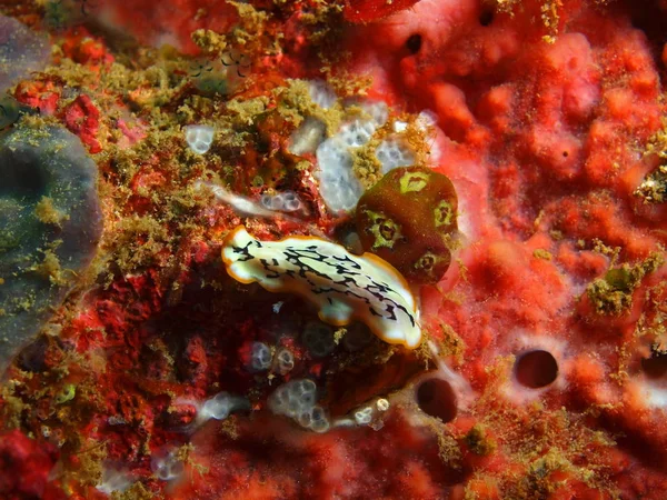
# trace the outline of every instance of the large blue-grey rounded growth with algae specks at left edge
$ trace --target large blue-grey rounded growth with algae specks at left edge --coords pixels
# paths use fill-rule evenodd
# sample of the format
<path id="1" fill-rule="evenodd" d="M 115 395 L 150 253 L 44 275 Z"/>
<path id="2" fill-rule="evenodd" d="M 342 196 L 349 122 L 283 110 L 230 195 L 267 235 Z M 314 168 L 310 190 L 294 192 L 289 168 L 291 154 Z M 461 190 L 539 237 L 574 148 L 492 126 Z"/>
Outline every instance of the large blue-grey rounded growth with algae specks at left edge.
<path id="1" fill-rule="evenodd" d="M 0 372 L 76 283 L 102 222 L 97 166 L 57 127 L 0 134 Z"/>

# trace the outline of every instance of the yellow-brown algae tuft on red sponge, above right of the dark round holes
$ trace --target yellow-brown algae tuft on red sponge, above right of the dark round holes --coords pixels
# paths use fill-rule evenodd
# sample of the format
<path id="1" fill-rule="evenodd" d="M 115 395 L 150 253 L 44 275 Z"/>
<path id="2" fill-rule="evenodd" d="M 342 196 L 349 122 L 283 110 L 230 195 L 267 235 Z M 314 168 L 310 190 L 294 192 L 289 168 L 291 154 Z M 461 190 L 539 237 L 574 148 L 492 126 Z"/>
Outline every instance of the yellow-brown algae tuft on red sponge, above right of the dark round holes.
<path id="1" fill-rule="evenodd" d="M 655 272 L 665 262 L 660 253 L 651 253 L 645 261 L 607 271 L 588 286 L 586 294 L 598 314 L 619 316 L 633 304 L 633 293 L 641 280 Z"/>

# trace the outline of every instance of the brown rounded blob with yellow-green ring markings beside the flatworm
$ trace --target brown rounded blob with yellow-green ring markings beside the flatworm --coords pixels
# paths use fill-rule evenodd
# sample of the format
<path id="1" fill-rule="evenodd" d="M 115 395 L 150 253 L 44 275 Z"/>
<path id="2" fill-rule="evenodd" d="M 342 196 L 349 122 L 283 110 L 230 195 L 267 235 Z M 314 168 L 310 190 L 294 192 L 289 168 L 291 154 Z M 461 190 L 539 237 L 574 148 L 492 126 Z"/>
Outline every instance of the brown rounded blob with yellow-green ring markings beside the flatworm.
<path id="1" fill-rule="evenodd" d="M 394 169 L 359 200 L 357 232 L 366 251 L 412 281 L 432 283 L 451 261 L 457 206 L 446 176 L 426 167 Z"/>

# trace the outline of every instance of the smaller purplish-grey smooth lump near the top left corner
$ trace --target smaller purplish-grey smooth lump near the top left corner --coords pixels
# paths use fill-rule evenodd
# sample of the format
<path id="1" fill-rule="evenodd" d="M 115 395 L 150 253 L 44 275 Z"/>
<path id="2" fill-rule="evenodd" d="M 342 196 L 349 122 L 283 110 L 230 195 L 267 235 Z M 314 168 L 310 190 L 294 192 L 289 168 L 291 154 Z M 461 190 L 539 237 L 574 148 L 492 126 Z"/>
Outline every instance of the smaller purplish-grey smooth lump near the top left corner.
<path id="1" fill-rule="evenodd" d="M 47 37 L 12 18 L 0 16 L 0 92 L 33 71 L 51 57 Z"/>

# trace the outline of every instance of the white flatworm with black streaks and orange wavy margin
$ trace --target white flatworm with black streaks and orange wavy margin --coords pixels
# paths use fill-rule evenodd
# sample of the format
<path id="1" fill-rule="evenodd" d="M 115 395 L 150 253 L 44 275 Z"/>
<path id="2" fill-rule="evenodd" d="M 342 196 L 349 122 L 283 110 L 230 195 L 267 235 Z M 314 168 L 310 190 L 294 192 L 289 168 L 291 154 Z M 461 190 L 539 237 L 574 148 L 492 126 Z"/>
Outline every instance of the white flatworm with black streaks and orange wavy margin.
<path id="1" fill-rule="evenodd" d="M 382 259 L 354 256 L 315 237 L 259 241 L 238 227 L 222 246 L 227 272 L 241 283 L 297 293 L 319 308 L 322 321 L 341 327 L 359 319 L 381 340 L 408 349 L 421 342 L 415 297 Z"/>

